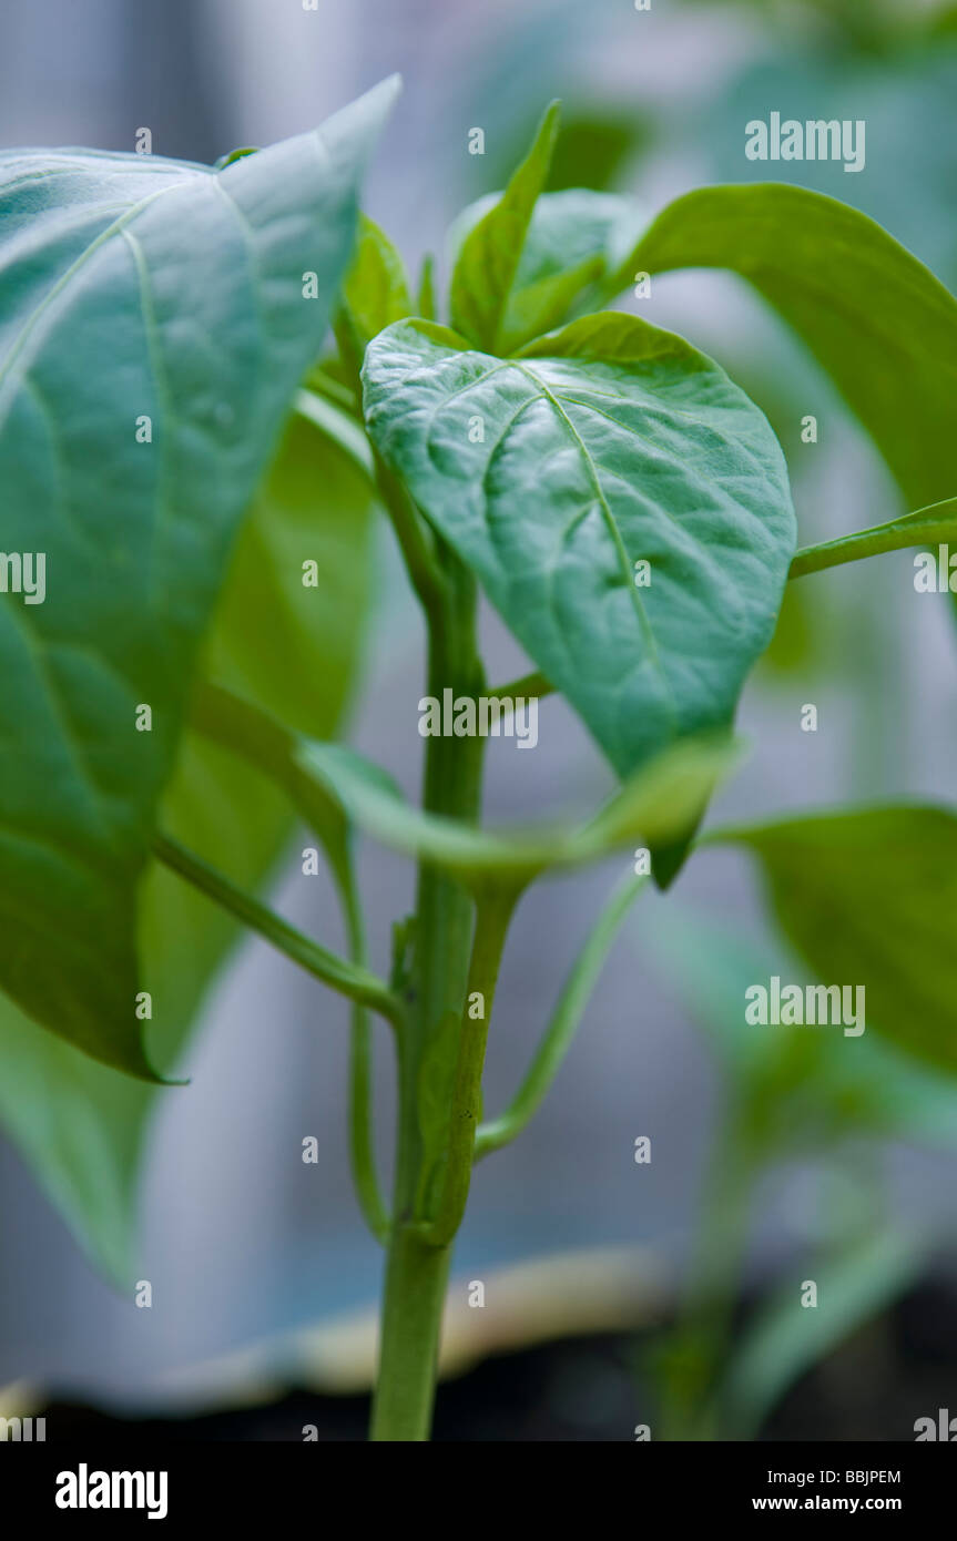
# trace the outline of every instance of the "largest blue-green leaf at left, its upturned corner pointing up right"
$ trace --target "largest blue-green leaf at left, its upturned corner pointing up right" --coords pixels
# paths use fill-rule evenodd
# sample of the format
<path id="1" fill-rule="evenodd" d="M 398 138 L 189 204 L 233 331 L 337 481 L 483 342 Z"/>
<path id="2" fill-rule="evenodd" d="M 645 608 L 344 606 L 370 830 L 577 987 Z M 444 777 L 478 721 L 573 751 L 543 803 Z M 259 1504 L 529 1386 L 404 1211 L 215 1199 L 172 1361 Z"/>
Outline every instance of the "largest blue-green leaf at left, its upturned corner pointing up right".
<path id="1" fill-rule="evenodd" d="M 0 985 L 148 1079 L 136 891 L 154 814 L 197 644 L 319 350 L 391 94 L 219 173 L 0 156 L 0 530 L 8 552 L 45 552 L 48 590 L 0 607 L 0 720 L 15 727 Z M 136 727 L 143 706 L 149 732 Z"/>

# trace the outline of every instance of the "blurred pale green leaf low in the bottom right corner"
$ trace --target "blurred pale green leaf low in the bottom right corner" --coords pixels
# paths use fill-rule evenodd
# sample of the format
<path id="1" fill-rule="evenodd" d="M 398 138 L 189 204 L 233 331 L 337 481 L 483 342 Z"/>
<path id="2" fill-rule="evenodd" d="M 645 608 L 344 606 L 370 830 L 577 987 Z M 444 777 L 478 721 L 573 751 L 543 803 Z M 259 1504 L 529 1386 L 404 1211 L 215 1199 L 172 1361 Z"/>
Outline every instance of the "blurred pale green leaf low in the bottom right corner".
<path id="1" fill-rule="evenodd" d="M 754 1439 L 787 1387 L 903 1294 L 925 1261 L 912 1231 L 892 1230 L 809 1262 L 815 1310 L 801 1305 L 791 1279 L 735 1348 L 718 1401 L 721 1436 Z"/>

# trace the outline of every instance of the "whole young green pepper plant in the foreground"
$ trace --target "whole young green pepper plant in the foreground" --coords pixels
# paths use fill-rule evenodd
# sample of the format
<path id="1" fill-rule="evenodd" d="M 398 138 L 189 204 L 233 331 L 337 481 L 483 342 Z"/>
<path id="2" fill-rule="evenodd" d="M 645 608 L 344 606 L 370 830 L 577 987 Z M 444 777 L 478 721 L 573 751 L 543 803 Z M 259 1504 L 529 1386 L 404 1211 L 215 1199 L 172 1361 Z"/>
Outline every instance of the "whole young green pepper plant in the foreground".
<path id="1" fill-rule="evenodd" d="M 387 1250 L 371 1432 L 424 1439 L 473 1165 L 533 1116 L 635 895 L 701 843 L 786 582 L 957 532 L 957 307 L 869 219 L 797 186 L 706 188 L 650 223 L 626 199 L 546 193 L 555 105 L 505 191 L 456 222 L 445 299 L 431 264 L 413 296 L 359 213 L 393 92 L 213 168 L 0 154 L 0 1113 L 122 1276 L 148 1111 L 182 1096 L 157 1088 L 240 928 L 348 997 L 353 1170 Z M 678 267 L 750 280 L 917 512 L 795 555 L 758 407 L 683 337 L 607 308 Z M 425 695 L 452 703 L 419 806 L 333 743 L 374 510 L 421 606 Z M 532 664 L 512 684 L 485 678 L 481 595 Z M 501 729 L 549 692 L 620 791 L 576 826 L 487 829 L 476 713 Z M 262 898 L 294 818 L 328 858 L 347 957 Z M 388 979 L 367 963 L 356 831 L 418 863 Z M 918 965 L 935 942 L 952 957 L 951 812 L 703 837 L 721 838 L 754 852 L 821 977 L 866 979 L 877 1032 L 957 1066 L 955 965 Z M 515 908 L 615 851 L 621 881 L 485 1120 Z M 388 1204 L 373 1017 L 396 1053 Z"/>

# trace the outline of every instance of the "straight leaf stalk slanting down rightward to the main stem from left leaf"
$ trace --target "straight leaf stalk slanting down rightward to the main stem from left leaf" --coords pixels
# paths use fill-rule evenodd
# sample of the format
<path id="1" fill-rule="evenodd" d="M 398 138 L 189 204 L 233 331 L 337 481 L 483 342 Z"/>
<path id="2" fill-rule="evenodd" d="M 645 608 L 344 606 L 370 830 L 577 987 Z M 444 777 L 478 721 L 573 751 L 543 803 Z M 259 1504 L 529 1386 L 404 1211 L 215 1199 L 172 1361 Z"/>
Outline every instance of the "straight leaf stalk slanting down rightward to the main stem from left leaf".
<path id="1" fill-rule="evenodd" d="M 193 883 L 208 898 L 227 909 L 236 920 L 240 920 L 250 931 L 256 931 L 270 942 L 279 952 L 285 952 L 293 963 L 314 974 L 324 985 L 348 995 L 364 1006 L 371 1006 L 379 1016 L 399 1026 L 402 1022 L 402 1005 L 391 991 L 364 968 L 347 963 L 345 959 L 328 952 L 317 942 L 305 937 L 294 926 L 276 915 L 259 900 L 243 894 L 214 868 L 208 866 L 202 857 L 194 855 L 168 835 L 156 835 L 153 852 L 188 883 Z"/>

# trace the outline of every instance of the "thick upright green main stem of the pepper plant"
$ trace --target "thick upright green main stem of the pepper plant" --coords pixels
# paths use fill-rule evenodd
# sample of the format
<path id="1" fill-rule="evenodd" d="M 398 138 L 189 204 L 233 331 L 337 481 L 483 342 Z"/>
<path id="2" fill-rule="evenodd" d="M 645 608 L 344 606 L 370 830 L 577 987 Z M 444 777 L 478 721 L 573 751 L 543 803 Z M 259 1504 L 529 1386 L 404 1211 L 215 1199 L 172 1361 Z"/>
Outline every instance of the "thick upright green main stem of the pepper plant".
<path id="1" fill-rule="evenodd" d="M 459 695 L 481 695 L 475 581 L 447 549 L 438 547 L 436 556 L 442 562 L 439 579 L 428 578 L 419 589 L 428 624 L 427 690 L 441 697 L 452 686 Z M 482 747 L 481 738 L 427 740 L 422 806 L 428 812 L 467 823 L 478 820 Z M 374 1441 L 428 1438 L 452 1248 L 428 1244 L 422 1237 L 424 1216 L 416 1213 L 422 1168 L 419 1082 L 431 1036 L 448 1011 L 462 1011 L 470 938 L 472 900 L 465 889 L 421 861 L 407 1016 L 404 1031 L 396 1036 L 396 1173 L 371 1421 Z"/>

